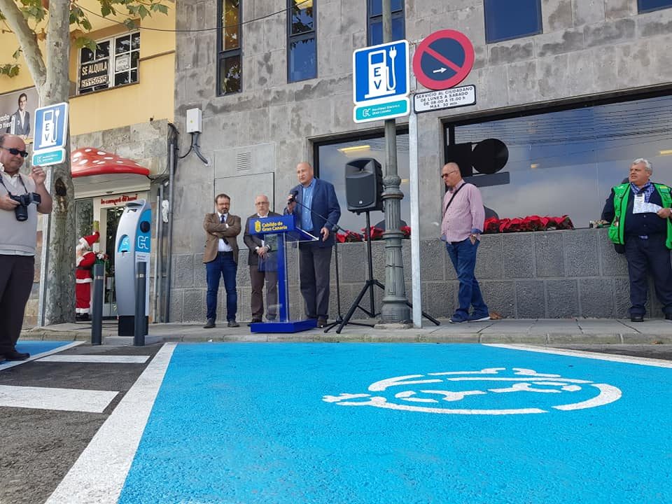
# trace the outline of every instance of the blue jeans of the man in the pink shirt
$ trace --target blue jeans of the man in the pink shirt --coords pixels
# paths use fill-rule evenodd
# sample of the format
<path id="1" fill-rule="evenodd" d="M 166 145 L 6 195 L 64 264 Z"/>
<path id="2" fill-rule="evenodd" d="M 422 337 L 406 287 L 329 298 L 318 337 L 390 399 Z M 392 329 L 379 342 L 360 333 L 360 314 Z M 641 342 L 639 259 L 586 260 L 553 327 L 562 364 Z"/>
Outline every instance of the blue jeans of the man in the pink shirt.
<path id="1" fill-rule="evenodd" d="M 457 279 L 460 281 L 459 307 L 454 315 L 457 318 L 468 318 L 470 306 L 474 307 L 473 313 L 475 315 L 485 316 L 488 314 L 488 307 L 483 301 L 481 289 L 474 276 L 476 251 L 479 243 L 479 240 L 476 240 L 476 243 L 472 245 L 468 238 L 454 243 L 446 242 L 446 250 L 457 272 Z"/>

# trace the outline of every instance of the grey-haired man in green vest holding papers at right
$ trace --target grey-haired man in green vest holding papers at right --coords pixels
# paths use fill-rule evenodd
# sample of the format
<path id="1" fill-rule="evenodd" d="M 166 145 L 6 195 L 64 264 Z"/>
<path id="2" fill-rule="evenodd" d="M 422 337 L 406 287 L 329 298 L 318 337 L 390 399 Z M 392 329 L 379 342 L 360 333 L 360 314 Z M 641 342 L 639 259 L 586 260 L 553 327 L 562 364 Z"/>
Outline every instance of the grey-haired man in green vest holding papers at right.
<path id="1" fill-rule="evenodd" d="M 672 195 L 669 186 L 649 180 L 652 172 L 650 162 L 634 160 L 629 181 L 612 188 L 602 211 L 603 220 L 611 223 L 609 238 L 628 260 L 633 322 L 644 321 L 647 272 L 665 319 L 672 321 Z"/>

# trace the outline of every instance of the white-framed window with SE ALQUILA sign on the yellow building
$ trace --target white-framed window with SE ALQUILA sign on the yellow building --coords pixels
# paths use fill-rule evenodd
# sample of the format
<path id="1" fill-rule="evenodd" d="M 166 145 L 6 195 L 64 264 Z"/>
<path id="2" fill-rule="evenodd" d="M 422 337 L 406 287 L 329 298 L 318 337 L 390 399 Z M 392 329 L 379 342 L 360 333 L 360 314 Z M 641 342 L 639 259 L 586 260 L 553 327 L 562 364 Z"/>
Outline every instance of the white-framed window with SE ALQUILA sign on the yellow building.
<path id="1" fill-rule="evenodd" d="M 98 41 L 95 50 L 81 48 L 78 94 L 137 83 L 139 59 L 139 32 Z"/>

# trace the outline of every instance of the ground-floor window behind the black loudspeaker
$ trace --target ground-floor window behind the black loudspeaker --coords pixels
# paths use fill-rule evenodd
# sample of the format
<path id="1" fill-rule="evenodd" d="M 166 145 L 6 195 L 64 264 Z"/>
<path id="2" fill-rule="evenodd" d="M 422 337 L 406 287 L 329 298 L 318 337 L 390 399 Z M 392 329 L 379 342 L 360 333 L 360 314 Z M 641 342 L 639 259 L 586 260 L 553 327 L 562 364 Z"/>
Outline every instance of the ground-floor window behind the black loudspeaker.
<path id="1" fill-rule="evenodd" d="M 363 214 L 357 215 L 347 210 L 345 193 L 345 165 L 358 158 L 374 158 L 383 166 L 385 171 L 385 137 L 383 134 L 360 136 L 338 141 L 328 141 L 315 144 L 315 174 L 334 185 L 336 196 L 341 206 L 341 218 L 338 225 L 344 230 L 361 232 L 366 227 Z M 397 133 L 397 173 L 401 178 L 401 191 L 409 194 L 409 157 L 408 133 Z M 401 200 L 402 225 L 410 225 L 410 198 Z M 381 211 L 372 211 L 371 225 L 384 223 L 385 214 Z"/>

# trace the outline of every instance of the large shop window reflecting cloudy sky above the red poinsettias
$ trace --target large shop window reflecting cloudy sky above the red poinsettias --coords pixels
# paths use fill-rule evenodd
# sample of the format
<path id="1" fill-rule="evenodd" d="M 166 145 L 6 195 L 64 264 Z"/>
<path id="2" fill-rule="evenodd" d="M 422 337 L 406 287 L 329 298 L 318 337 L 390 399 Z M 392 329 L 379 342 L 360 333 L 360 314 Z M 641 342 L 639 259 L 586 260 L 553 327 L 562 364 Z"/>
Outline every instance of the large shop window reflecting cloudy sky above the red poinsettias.
<path id="1" fill-rule="evenodd" d="M 461 171 L 498 218 L 568 215 L 588 228 L 636 158 L 652 163 L 652 181 L 672 181 L 671 110 L 666 96 L 449 125 L 446 159 L 463 160 Z M 505 144 L 503 167 L 495 151 L 489 162 L 475 154 L 485 139 Z"/>

